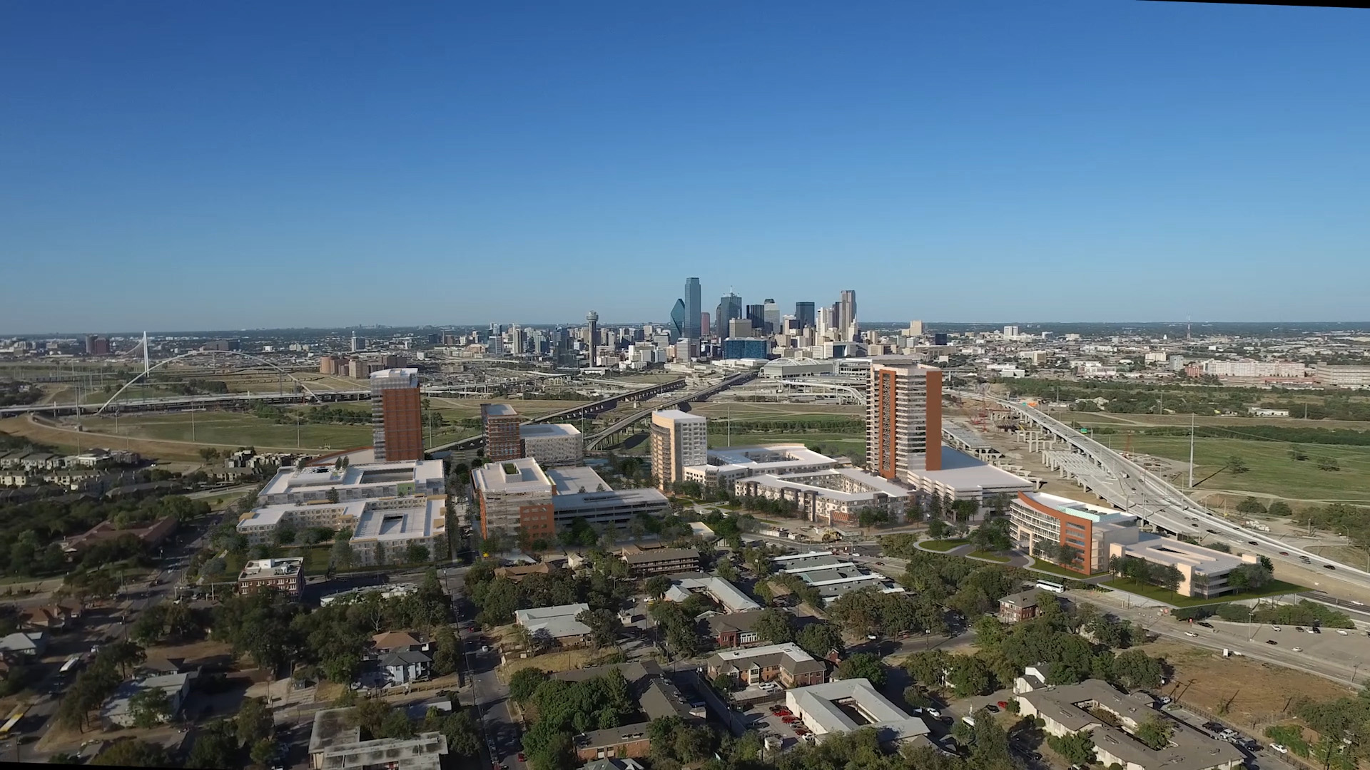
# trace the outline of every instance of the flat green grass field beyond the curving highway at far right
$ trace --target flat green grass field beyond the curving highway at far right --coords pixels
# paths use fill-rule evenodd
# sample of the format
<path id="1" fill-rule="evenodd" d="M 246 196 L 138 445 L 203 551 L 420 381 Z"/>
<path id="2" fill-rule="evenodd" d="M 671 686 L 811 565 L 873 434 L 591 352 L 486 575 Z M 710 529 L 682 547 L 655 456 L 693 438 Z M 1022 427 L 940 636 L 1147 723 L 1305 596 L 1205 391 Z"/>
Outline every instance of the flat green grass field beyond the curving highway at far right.
<path id="1" fill-rule="evenodd" d="M 1125 437 L 1112 436 L 1115 449 Z M 1289 445 L 1243 438 L 1197 438 L 1195 441 L 1195 481 L 1203 480 L 1240 456 L 1251 469 L 1233 474 L 1222 471 L 1204 481 L 1199 489 L 1237 489 L 1277 495 L 1293 500 L 1360 500 L 1370 501 L 1370 447 L 1300 444 L 1307 460 L 1289 459 Z M 1134 436 L 1133 452 L 1189 459 L 1189 440 L 1178 436 Z M 1319 458 L 1333 458 L 1340 471 L 1318 470 Z"/>

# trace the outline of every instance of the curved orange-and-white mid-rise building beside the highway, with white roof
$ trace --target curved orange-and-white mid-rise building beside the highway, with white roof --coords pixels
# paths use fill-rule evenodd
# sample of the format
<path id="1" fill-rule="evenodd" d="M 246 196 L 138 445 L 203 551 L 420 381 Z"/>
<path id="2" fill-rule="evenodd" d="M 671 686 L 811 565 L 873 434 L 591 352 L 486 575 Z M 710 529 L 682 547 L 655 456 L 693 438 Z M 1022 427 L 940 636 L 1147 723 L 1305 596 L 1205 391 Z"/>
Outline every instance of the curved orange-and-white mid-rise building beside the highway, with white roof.
<path id="1" fill-rule="evenodd" d="M 1044 543 L 1069 547 L 1075 558 L 1062 566 L 1085 574 L 1106 570 L 1110 545 L 1137 543 L 1138 534 L 1132 514 L 1044 492 L 1019 492 L 1010 501 L 1008 522 L 1017 548 L 1038 554 Z"/>

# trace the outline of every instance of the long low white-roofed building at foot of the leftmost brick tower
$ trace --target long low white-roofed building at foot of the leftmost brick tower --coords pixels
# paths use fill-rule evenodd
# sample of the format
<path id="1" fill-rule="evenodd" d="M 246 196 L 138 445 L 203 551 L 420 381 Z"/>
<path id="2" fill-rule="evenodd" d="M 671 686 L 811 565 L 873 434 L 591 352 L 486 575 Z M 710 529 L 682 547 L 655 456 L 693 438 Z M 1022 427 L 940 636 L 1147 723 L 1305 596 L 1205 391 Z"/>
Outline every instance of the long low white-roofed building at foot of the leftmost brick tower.
<path id="1" fill-rule="evenodd" d="M 286 467 L 262 488 L 258 503 L 340 503 L 404 495 L 443 496 L 443 460 L 408 460 L 347 466 Z"/>

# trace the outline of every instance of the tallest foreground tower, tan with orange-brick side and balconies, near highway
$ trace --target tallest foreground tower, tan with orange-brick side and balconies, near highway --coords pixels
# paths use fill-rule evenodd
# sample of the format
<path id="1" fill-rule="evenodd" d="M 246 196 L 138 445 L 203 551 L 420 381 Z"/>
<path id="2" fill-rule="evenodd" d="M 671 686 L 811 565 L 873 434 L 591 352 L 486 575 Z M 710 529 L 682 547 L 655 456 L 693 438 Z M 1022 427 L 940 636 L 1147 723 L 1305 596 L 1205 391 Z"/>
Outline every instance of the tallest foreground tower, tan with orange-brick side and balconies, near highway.
<path id="1" fill-rule="evenodd" d="M 940 369 L 896 356 L 871 359 L 866 467 L 899 480 L 910 470 L 941 470 Z"/>

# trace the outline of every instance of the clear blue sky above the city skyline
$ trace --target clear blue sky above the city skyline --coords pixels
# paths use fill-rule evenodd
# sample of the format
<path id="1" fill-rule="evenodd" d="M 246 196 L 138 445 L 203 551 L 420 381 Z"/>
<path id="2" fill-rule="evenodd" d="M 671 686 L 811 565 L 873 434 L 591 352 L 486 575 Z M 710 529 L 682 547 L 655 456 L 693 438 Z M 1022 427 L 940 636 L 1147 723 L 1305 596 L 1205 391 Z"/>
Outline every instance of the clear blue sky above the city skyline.
<path id="1" fill-rule="evenodd" d="M 1367 319 L 1370 12 L 4 3 L 0 333 Z"/>

